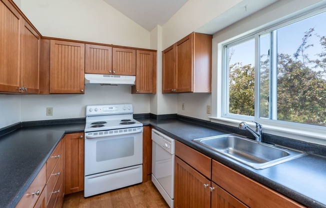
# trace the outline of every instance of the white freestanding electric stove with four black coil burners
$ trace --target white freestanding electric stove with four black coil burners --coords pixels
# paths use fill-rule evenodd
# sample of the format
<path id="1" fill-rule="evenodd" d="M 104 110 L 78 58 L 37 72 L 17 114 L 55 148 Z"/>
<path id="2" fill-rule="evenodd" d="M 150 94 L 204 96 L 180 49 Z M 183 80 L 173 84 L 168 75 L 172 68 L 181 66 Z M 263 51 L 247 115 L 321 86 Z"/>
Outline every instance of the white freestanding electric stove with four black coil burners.
<path id="1" fill-rule="evenodd" d="M 132 104 L 86 106 L 84 197 L 142 182 L 142 123 Z"/>

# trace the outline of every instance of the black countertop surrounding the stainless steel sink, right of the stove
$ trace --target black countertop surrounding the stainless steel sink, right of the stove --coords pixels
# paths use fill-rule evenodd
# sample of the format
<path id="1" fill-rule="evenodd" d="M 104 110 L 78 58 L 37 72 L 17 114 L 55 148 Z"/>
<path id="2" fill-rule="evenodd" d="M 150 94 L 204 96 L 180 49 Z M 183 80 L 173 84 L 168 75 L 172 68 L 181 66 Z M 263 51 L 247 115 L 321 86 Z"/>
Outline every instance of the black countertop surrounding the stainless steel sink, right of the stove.
<path id="1" fill-rule="evenodd" d="M 325 156 L 307 154 L 272 167 L 257 170 L 192 141 L 195 138 L 230 132 L 179 119 L 137 118 L 137 120 L 144 125 L 154 126 L 172 138 L 303 205 L 315 208 L 326 207 Z"/>

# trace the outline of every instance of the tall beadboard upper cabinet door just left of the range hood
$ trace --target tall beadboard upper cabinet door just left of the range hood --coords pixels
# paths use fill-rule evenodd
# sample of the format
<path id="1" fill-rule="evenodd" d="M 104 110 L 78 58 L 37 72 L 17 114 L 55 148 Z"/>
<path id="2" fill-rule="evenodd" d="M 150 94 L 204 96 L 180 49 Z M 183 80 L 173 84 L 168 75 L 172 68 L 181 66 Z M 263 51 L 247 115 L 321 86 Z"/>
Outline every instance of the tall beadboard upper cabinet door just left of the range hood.
<path id="1" fill-rule="evenodd" d="M 84 92 L 85 44 L 50 40 L 50 93 Z"/>

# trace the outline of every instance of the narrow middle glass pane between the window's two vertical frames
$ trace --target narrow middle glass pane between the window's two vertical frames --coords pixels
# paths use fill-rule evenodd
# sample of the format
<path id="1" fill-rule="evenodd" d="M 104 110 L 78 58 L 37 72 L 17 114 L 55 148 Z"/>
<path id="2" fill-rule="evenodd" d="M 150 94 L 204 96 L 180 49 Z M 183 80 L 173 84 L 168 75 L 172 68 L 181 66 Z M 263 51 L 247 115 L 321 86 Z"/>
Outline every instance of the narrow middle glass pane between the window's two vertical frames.
<path id="1" fill-rule="evenodd" d="M 260 69 L 260 90 L 259 90 L 259 117 L 269 117 L 269 68 L 270 68 L 270 34 L 259 37 L 259 69 Z"/>

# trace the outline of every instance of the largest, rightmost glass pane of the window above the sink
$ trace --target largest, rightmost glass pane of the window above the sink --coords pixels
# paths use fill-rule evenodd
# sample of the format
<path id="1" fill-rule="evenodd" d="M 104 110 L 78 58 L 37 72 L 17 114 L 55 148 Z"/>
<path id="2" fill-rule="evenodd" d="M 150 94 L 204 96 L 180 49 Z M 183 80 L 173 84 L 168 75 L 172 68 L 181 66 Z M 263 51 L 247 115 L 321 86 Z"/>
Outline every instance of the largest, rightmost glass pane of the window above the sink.
<path id="1" fill-rule="evenodd" d="M 277 29 L 277 120 L 326 125 L 326 13 Z"/>

